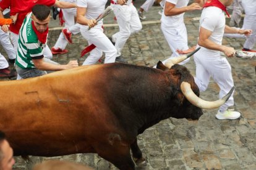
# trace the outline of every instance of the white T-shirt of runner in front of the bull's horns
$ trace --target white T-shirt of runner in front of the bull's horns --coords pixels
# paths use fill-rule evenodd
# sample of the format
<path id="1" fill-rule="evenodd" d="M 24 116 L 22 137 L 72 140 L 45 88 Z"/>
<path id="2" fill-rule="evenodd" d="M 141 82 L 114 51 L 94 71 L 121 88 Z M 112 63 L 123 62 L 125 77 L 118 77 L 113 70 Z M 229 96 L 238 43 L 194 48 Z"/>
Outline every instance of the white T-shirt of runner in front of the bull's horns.
<path id="1" fill-rule="evenodd" d="M 211 31 L 211 36 L 208 38 L 216 44 L 222 44 L 224 28 L 226 25 L 225 13 L 218 7 L 205 7 L 202 11 L 200 18 L 200 27 L 203 27 Z M 201 51 L 207 51 L 210 53 L 220 53 L 219 51 L 206 49 L 202 47 Z"/>

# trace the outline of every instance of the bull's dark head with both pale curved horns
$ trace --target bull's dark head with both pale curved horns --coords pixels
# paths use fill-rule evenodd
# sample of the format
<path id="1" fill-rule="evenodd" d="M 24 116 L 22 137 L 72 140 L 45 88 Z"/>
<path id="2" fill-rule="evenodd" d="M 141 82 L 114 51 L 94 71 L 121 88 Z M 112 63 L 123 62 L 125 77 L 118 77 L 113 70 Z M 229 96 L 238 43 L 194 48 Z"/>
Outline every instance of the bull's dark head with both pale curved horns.
<path id="1" fill-rule="evenodd" d="M 182 110 L 181 112 L 186 112 L 185 118 L 191 118 L 191 119 L 198 119 L 203 113 L 202 110 L 198 110 L 197 108 L 205 108 L 205 109 L 211 109 L 211 108 L 218 108 L 221 105 L 223 105 L 231 96 L 231 94 L 234 91 L 234 87 L 228 92 L 227 95 L 225 95 L 222 99 L 209 102 L 203 99 L 200 99 L 199 96 L 199 90 L 197 85 L 194 82 L 194 78 L 192 75 L 190 75 L 189 71 L 186 67 L 183 67 L 181 65 L 176 65 L 177 63 L 182 62 L 183 60 L 186 60 L 195 52 L 199 50 L 196 49 L 194 52 L 192 52 L 189 55 L 181 55 L 180 57 L 174 57 L 173 59 L 170 59 L 166 62 L 165 65 L 163 63 L 158 62 L 158 65 L 156 68 L 166 71 L 169 70 L 172 75 L 175 75 L 176 77 L 176 84 L 179 85 L 177 89 L 181 89 L 182 96 L 178 96 L 179 100 L 181 100 L 182 104 L 184 105 L 185 110 Z M 179 75 L 179 76 L 176 76 Z M 183 98 L 186 97 L 186 99 L 192 103 L 187 103 L 187 101 L 184 101 Z M 190 107 L 193 107 L 190 109 Z M 195 108 L 197 107 L 197 108 Z M 195 113 L 190 113 L 191 111 L 194 111 Z M 178 117 L 177 117 L 178 118 Z"/>

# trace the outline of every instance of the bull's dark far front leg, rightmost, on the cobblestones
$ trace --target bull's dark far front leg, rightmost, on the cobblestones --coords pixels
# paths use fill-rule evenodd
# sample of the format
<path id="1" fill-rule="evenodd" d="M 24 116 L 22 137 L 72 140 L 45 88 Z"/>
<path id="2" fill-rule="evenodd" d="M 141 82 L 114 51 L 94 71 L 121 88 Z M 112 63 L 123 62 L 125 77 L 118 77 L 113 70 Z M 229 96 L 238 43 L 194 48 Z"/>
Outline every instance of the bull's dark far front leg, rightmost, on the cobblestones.
<path id="1" fill-rule="evenodd" d="M 142 157 L 142 151 L 137 144 L 137 137 L 134 140 L 134 143 L 130 145 L 130 149 L 132 150 L 132 158 L 134 159 L 137 166 L 145 166 L 147 163 L 145 158 Z"/>

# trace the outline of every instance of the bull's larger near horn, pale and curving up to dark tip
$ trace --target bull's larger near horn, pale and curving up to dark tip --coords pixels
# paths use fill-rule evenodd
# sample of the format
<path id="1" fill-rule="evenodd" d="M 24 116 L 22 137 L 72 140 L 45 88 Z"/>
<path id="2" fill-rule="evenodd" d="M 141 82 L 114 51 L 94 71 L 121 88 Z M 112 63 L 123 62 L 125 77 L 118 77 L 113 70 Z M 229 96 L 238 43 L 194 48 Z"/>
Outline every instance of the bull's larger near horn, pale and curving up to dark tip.
<path id="1" fill-rule="evenodd" d="M 234 86 L 228 92 L 227 95 L 225 95 L 222 99 L 216 100 L 214 102 L 208 102 L 206 100 L 200 99 L 200 97 L 197 97 L 197 95 L 195 95 L 195 93 L 192 91 L 190 84 L 185 81 L 181 83 L 181 91 L 185 95 L 186 99 L 189 100 L 189 102 L 195 105 L 196 107 L 209 109 L 217 108 L 223 105 L 229 99 L 230 95 L 233 93 Z"/>

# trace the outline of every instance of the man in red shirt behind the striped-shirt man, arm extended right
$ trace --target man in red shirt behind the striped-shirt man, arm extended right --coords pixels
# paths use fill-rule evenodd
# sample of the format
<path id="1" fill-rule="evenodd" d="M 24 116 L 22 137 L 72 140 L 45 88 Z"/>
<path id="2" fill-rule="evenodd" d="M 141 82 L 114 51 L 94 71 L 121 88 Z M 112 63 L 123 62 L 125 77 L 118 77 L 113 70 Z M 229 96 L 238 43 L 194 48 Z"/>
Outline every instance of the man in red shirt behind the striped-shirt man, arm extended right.
<path id="1" fill-rule="evenodd" d="M 2 30 L 7 32 L 11 31 L 10 38 L 12 43 L 14 44 L 14 50 L 17 52 L 18 49 L 18 39 L 19 39 L 19 30 L 22 26 L 23 20 L 28 12 L 32 11 L 32 7 L 36 4 L 43 4 L 46 6 L 55 6 L 59 8 L 74 8 L 77 7 L 76 4 L 72 4 L 69 2 L 62 2 L 58 0 L 2 0 L 0 2 L 0 18 L 4 18 L 2 15 L 2 11 L 10 7 L 10 15 L 15 15 L 19 13 L 17 21 L 15 24 L 10 26 L 3 25 Z M 51 50 L 48 46 L 44 49 L 44 55 L 46 58 L 51 59 L 53 55 L 51 54 Z"/>

